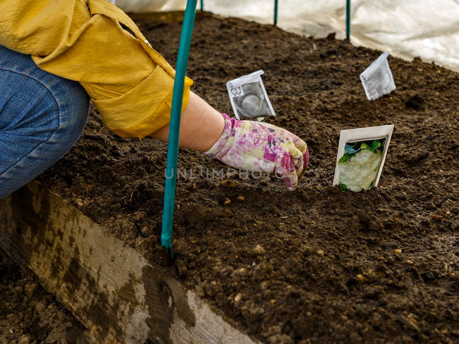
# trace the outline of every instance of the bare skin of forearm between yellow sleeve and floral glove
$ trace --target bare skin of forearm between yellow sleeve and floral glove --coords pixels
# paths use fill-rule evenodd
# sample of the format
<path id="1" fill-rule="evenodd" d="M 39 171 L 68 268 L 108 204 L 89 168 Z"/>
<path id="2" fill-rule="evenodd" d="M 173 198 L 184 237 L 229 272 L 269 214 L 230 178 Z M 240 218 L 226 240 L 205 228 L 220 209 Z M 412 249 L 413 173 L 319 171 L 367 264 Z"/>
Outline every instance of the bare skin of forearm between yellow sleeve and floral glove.
<path id="1" fill-rule="evenodd" d="M 179 146 L 201 152 L 211 149 L 223 133 L 224 123 L 220 112 L 190 92 L 190 101 L 180 120 Z M 169 125 L 160 128 L 151 136 L 168 142 Z"/>

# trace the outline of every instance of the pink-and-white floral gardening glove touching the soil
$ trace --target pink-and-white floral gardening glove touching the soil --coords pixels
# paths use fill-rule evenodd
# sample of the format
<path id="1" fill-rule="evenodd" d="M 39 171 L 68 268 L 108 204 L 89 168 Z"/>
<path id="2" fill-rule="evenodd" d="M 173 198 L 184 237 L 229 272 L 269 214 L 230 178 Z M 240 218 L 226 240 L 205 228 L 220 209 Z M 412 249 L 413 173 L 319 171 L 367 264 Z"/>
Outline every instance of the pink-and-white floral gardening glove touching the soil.
<path id="1" fill-rule="evenodd" d="M 205 154 L 241 170 L 273 173 L 290 190 L 297 187 L 309 159 L 302 139 L 271 124 L 222 116 L 222 136 Z"/>

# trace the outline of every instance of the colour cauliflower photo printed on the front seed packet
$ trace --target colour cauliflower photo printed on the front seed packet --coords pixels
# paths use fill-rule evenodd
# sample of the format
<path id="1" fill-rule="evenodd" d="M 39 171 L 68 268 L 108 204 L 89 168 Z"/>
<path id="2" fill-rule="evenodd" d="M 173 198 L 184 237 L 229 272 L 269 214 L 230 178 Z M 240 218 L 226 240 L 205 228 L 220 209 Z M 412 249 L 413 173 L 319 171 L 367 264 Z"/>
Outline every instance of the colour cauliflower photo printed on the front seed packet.
<path id="1" fill-rule="evenodd" d="M 338 161 L 340 191 L 373 187 L 385 143 L 386 138 L 346 143 L 346 152 Z"/>

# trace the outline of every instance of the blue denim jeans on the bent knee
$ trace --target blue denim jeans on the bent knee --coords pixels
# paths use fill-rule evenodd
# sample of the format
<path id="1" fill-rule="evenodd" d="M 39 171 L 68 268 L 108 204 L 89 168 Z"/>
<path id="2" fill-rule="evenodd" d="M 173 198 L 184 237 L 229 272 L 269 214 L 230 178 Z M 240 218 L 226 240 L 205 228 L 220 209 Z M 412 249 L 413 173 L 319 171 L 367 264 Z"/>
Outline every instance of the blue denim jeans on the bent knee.
<path id="1" fill-rule="evenodd" d="M 0 198 L 61 159 L 83 132 L 88 112 L 89 97 L 78 82 L 0 45 Z"/>

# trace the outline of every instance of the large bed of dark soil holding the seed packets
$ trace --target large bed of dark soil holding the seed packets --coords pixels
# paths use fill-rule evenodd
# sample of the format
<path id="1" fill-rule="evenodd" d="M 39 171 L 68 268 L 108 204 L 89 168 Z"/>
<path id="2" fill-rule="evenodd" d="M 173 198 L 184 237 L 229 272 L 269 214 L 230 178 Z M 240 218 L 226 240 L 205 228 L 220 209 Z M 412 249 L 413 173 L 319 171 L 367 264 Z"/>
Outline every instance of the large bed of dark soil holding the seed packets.
<path id="1" fill-rule="evenodd" d="M 180 24 L 136 22 L 174 66 Z M 199 168 L 177 183 L 174 273 L 265 343 L 459 343 L 459 74 L 389 57 L 397 89 L 368 101 L 359 73 L 378 55 L 332 36 L 196 18 L 193 90 L 232 115 L 226 81 L 263 69 L 277 114 L 266 122 L 310 151 L 293 192 L 246 176 L 224 187 Z M 395 128 L 379 186 L 340 193 L 340 130 L 383 124 Z M 93 109 L 38 179 L 159 264 L 167 146 L 102 127 Z M 179 168 L 195 165 L 225 168 L 180 150 Z"/>

